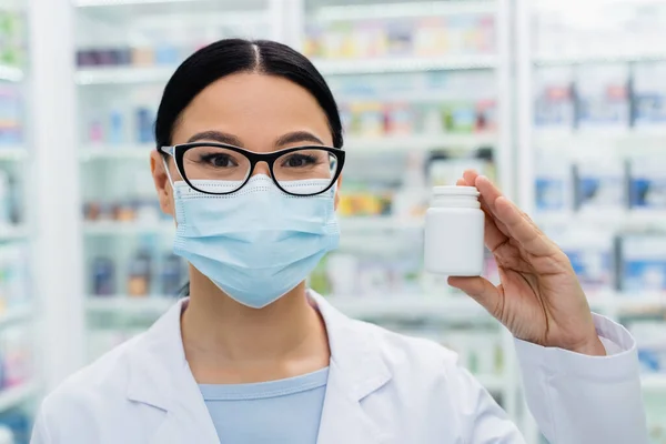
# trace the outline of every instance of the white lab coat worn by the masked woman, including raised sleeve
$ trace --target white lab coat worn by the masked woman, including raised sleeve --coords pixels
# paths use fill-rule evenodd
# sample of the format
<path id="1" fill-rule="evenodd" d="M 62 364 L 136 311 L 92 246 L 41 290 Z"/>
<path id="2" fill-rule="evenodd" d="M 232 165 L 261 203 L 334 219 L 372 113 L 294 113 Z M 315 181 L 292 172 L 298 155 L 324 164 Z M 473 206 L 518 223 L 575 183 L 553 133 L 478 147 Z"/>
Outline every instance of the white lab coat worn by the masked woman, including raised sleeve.
<path id="1" fill-rule="evenodd" d="M 319 444 L 524 443 L 453 352 L 311 297 L 331 347 Z M 185 301 L 50 394 L 32 443 L 219 443 L 183 352 Z M 647 443 L 634 341 L 604 317 L 595 322 L 624 352 L 591 357 L 516 342 L 532 412 L 554 444 Z"/>

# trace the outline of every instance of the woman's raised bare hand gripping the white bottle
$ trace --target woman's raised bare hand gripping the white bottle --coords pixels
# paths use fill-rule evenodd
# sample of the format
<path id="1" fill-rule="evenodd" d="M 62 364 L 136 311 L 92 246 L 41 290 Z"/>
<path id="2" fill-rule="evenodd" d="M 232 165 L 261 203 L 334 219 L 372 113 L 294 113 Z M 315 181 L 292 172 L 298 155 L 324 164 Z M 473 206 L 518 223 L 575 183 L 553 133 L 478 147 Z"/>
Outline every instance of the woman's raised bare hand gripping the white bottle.
<path id="1" fill-rule="evenodd" d="M 475 299 L 515 337 L 605 355 L 566 254 L 488 179 L 465 171 L 457 184 L 481 192 L 485 245 L 495 256 L 502 283 L 494 286 L 484 278 L 450 278 L 448 283 Z"/>

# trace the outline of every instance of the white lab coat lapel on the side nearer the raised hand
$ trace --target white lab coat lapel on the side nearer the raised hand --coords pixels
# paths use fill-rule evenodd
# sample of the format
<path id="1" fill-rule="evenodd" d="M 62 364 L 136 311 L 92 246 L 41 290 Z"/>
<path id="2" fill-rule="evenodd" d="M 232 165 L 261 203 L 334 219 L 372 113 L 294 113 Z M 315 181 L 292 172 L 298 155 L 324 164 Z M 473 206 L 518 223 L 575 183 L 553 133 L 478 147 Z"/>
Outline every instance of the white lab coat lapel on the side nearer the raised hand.
<path id="1" fill-rule="evenodd" d="M 372 334 L 314 292 L 326 324 L 331 362 L 317 444 L 380 444 L 391 436 L 363 410 L 362 400 L 391 380 Z M 361 327 L 360 325 L 363 325 Z"/>

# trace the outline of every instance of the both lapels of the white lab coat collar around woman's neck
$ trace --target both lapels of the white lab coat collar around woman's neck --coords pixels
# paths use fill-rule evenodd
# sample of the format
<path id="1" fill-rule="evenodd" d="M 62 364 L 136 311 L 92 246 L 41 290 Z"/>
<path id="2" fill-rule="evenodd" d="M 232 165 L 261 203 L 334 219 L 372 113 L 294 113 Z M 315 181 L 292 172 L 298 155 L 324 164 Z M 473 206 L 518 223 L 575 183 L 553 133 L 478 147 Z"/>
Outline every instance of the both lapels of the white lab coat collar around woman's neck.
<path id="1" fill-rule="evenodd" d="M 321 295 L 309 292 L 329 335 L 331 362 L 319 444 L 381 443 L 382 431 L 361 401 L 391 380 L 373 330 L 346 317 Z M 218 443 L 210 414 L 185 360 L 180 319 L 188 299 L 171 307 L 129 353 L 130 401 L 167 412 L 154 443 Z M 196 440 L 191 441 L 194 436 Z M 186 441 L 179 441 L 186 437 Z"/>

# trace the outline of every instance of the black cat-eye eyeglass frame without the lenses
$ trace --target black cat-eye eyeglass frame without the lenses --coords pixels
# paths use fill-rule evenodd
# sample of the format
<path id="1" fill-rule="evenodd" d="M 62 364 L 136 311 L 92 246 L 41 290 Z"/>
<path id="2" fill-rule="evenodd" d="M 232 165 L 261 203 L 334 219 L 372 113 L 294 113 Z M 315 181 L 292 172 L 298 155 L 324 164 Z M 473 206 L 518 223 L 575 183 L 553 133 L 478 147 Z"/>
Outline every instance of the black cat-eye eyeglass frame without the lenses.
<path id="1" fill-rule="evenodd" d="M 190 179 L 188 179 L 186 174 L 184 173 L 184 171 L 185 171 L 184 157 L 185 157 L 185 152 L 188 150 L 191 150 L 193 148 L 199 148 L 199 147 L 221 148 L 224 150 L 235 151 L 240 154 L 243 154 L 250 161 L 250 172 L 248 173 L 245 181 L 238 189 L 235 189 L 233 191 L 226 191 L 226 192 L 204 191 L 204 190 L 200 190 L 196 186 L 194 186 L 192 184 L 192 182 L 190 182 Z M 331 180 L 331 183 L 324 190 L 317 191 L 316 193 L 310 193 L 310 194 L 295 194 L 295 193 L 289 192 L 285 189 L 283 189 L 280 185 L 280 183 L 278 182 L 278 180 L 275 179 L 275 174 L 273 174 L 273 164 L 275 163 L 275 161 L 278 159 L 280 159 L 281 157 L 283 157 L 284 154 L 289 154 L 290 152 L 302 151 L 302 150 L 320 150 L 320 151 L 326 151 L 326 152 L 335 155 L 335 158 L 337 160 L 337 165 L 336 165 L 337 169 L 335 171 L 335 174 L 333 175 L 333 179 Z M 213 194 L 213 195 L 233 194 L 236 191 L 240 191 L 243 186 L 245 186 L 245 184 L 252 178 L 252 172 L 254 171 L 254 167 L 256 167 L 256 164 L 259 162 L 265 162 L 269 165 L 269 171 L 271 172 L 271 180 L 273 181 L 273 183 L 275 183 L 275 185 L 281 191 L 285 192 L 286 194 L 302 196 L 302 198 L 319 195 L 319 194 L 322 194 L 322 193 L 325 193 L 326 191 L 329 191 L 333 186 L 333 184 L 337 181 L 337 179 L 340 178 L 340 174 L 342 173 L 342 168 L 344 167 L 344 159 L 345 159 L 345 152 L 343 149 L 334 148 L 334 147 L 324 147 L 324 145 L 293 147 L 293 148 L 285 148 L 284 150 L 273 151 L 270 153 L 258 153 L 254 151 L 245 150 L 244 148 L 229 145 L 226 143 L 192 142 L 192 143 L 181 143 L 181 144 L 172 145 L 172 147 L 159 147 L 158 151 L 162 154 L 171 155 L 173 158 L 173 160 L 175 161 L 175 167 L 178 169 L 178 172 L 180 173 L 181 178 L 183 178 L 185 183 L 188 185 L 190 185 L 190 188 L 192 188 L 201 193 Z"/>

